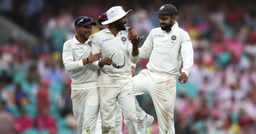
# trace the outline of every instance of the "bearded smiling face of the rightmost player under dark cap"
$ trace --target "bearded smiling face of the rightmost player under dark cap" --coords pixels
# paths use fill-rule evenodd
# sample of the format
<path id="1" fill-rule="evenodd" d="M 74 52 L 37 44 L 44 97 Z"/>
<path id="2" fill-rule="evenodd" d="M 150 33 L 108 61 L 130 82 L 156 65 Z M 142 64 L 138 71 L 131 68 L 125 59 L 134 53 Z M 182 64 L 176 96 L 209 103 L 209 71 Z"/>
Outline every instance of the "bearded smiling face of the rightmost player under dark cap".
<path id="1" fill-rule="evenodd" d="M 171 27 L 175 23 L 174 21 L 175 21 L 176 16 L 170 16 L 167 14 L 159 14 L 158 18 L 159 18 L 159 23 L 161 25 L 161 29 L 165 30 L 166 32 L 170 32 Z"/>

